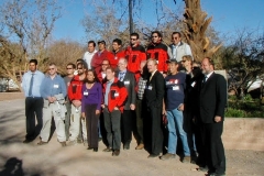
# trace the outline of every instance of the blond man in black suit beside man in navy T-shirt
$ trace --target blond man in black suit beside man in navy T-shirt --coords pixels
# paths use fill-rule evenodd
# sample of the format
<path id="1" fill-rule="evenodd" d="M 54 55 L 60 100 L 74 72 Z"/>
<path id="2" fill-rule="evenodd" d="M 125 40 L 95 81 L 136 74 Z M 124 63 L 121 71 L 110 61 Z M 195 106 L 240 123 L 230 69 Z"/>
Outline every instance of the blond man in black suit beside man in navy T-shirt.
<path id="1" fill-rule="evenodd" d="M 146 82 L 144 97 L 152 129 L 152 146 L 151 154 L 148 155 L 148 158 L 151 158 L 157 157 L 163 151 L 162 109 L 165 80 L 163 75 L 157 70 L 156 59 L 150 58 L 147 61 L 147 69 L 151 75 Z"/>

